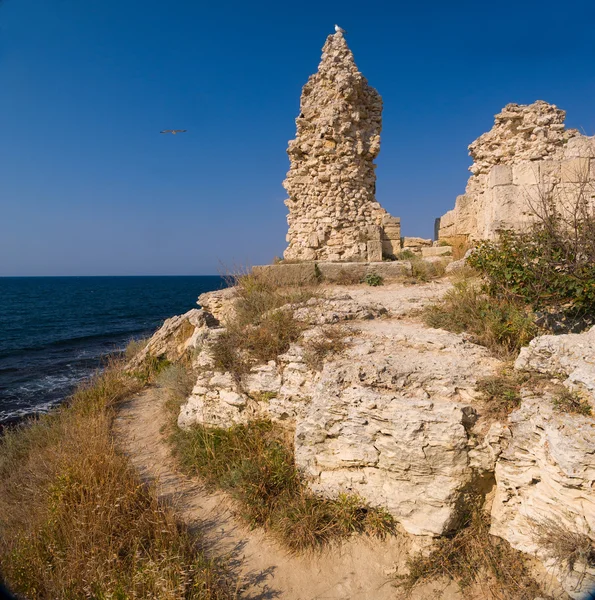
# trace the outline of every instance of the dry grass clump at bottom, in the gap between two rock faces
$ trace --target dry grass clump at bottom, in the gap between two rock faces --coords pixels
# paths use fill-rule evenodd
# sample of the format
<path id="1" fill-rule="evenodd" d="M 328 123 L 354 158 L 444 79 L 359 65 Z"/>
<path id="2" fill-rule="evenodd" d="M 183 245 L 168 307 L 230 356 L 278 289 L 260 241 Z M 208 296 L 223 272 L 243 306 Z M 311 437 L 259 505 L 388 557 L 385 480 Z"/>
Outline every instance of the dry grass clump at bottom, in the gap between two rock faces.
<path id="1" fill-rule="evenodd" d="M 452 537 L 442 538 L 429 556 L 418 555 L 409 562 L 403 587 L 411 591 L 418 583 L 447 577 L 463 591 L 474 584 L 488 588 L 489 598 L 534 600 L 541 596 L 522 554 L 504 540 L 489 534 L 490 518 L 480 499 L 470 499 L 465 525 Z"/>

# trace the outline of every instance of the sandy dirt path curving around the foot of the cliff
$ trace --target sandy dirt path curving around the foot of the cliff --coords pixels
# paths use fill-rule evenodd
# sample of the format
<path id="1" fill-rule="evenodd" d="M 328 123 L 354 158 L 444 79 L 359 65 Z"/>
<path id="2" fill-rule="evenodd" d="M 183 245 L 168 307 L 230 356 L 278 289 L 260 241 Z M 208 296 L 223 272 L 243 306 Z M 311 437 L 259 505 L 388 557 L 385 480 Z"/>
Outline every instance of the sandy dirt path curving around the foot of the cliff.
<path id="1" fill-rule="evenodd" d="M 234 517 L 223 494 L 205 492 L 176 469 L 161 433 L 166 422 L 159 390 L 149 389 L 122 406 L 116 433 L 146 480 L 156 480 L 159 495 L 173 502 L 181 518 L 200 527 L 206 551 L 227 555 L 244 582 L 241 597 L 251 600 L 385 600 L 404 598 L 391 574 L 406 558 L 407 540 L 358 536 L 322 553 L 289 556 L 262 530 L 249 531 Z M 461 600 L 455 586 L 427 585 L 411 600 L 441 597 Z"/>

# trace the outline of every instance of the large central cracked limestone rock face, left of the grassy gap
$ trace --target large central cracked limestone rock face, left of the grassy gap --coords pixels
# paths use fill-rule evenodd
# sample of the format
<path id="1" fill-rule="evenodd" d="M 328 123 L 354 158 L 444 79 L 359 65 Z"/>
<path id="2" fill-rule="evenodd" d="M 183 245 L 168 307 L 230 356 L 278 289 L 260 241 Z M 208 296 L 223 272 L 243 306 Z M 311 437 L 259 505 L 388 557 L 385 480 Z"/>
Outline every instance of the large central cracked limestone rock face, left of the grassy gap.
<path id="1" fill-rule="evenodd" d="M 348 356 L 325 365 L 296 424 L 296 464 L 315 491 L 359 494 L 415 535 L 446 533 L 476 474 L 476 375 L 497 364 L 462 336 L 362 324 Z"/>

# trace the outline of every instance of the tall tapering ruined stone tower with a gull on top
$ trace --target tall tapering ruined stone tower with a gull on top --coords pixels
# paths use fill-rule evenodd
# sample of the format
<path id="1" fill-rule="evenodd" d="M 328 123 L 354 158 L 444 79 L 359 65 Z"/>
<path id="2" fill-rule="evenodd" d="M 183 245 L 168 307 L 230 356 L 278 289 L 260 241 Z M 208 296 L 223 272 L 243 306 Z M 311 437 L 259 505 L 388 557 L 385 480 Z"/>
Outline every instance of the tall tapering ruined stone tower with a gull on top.
<path id="1" fill-rule="evenodd" d="M 289 142 L 285 259 L 381 261 L 401 249 L 400 219 L 376 201 L 382 98 L 358 71 L 342 33 L 330 35 L 302 90 Z"/>

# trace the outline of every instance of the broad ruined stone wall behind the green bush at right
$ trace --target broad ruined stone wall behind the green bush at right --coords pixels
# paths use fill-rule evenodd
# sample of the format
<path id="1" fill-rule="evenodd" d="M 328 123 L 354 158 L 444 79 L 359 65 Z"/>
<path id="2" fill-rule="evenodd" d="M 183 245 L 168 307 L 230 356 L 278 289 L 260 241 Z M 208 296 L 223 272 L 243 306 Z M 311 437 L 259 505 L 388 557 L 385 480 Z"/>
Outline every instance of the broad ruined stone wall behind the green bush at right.
<path id="1" fill-rule="evenodd" d="M 493 239 L 530 224 L 544 199 L 569 210 L 595 194 L 595 138 L 564 126 L 565 111 L 537 101 L 508 104 L 491 131 L 469 146 L 465 194 L 440 219 L 439 237 Z"/>

